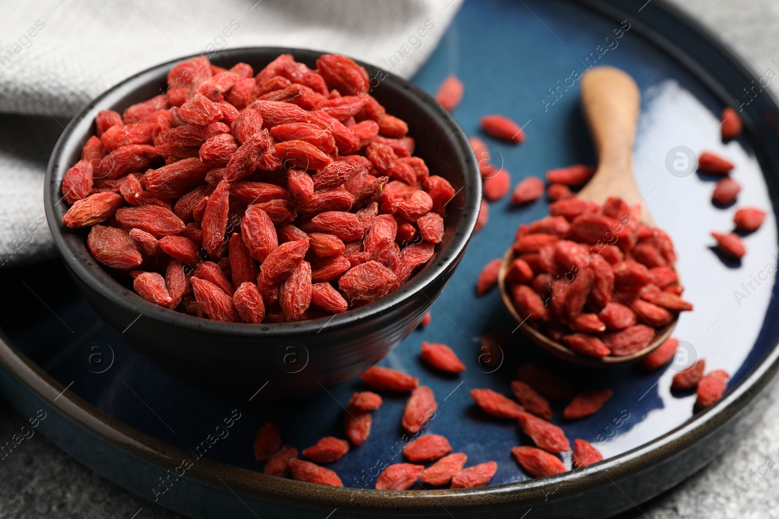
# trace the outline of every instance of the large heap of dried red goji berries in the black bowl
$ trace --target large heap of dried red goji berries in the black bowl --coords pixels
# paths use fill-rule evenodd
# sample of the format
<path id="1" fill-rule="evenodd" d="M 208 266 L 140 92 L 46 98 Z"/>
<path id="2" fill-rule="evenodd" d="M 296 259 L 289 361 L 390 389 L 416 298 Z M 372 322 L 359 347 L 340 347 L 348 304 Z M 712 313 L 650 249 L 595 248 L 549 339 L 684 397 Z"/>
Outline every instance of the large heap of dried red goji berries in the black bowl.
<path id="1" fill-rule="evenodd" d="M 62 182 L 69 227 L 140 296 L 216 321 L 298 321 L 397 289 L 455 194 L 365 69 L 282 54 L 256 76 L 194 58 L 167 93 L 97 114 Z"/>

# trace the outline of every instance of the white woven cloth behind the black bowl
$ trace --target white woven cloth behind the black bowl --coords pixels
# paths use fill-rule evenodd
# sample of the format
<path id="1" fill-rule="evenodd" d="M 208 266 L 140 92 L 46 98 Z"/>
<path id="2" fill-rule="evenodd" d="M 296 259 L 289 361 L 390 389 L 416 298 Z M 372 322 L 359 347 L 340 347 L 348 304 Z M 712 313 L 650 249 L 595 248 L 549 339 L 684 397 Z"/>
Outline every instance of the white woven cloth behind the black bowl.
<path id="1" fill-rule="evenodd" d="M 49 153 L 69 117 L 129 75 L 187 54 L 272 45 L 348 54 L 408 77 L 435 49 L 461 2 L 6 2 L 0 16 L 0 265 L 52 254 L 43 208 Z"/>

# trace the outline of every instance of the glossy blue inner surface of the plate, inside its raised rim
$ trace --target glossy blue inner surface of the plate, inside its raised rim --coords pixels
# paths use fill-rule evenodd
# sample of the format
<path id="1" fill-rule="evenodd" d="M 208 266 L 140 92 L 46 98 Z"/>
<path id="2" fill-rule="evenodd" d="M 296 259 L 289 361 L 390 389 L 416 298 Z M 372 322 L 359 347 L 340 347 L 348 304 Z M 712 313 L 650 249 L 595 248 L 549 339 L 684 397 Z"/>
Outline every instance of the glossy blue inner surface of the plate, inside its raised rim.
<path id="1" fill-rule="evenodd" d="M 772 203 L 775 171 L 766 163 L 761 167 L 757 158 L 775 143 L 750 133 L 754 124 L 749 115 L 745 135 L 721 142 L 719 114 L 727 104 L 738 109 L 737 101 L 722 98 L 721 86 L 704 84 L 689 66 L 638 33 L 636 24 L 643 23 L 637 12 L 640 3 L 629 4 L 632 15 L 622 23 L 570 2 L 465 2 L 432 58 L 413 79 L 428 92 L 435 92 L 446 75 L 456 74 L 463 80 L 464 100 L 453 114 L 468 135 L 479 135 L 488 143 L 493 163 L 509 170 L 516 184 L 553 167 L 594 163 L 573 71 L 583 72 L 588 63 L 595 63 L 623 68 L 633 75 L 642 95 L 641 114 L 636 114 L 640 118 L 634 153 L 636 178 L 657 226 L 675 241 L 685 298 L 695 305 L 693 312 L 682 314 L 674 333 L 686 342 L 688 357 L 668 369 L 645 373 L 636 366 L 587 370 L 564 365 L 516 330 L 497 290 L 481 298 L 474 295 L 474 281 L 485 263 L 502 255 L 520 223 L 544 216 L 548 204 L 542 199 L 512 208 L 508 197 L 490 204 L 489 222 L 471 240 L 460 267 L 435 304 L 432 324 L 414 331 L 380 365 L 411 373 L 432 387 L 439 411 L 426 431 L 448 437 L 454 451 L 468 455 L 467 465 L 497 461 L 499 468 L 491 485 L 528 478 L 510 457 L 510 449 L 531 443 L 513 421 L 485 416 L 468 394 L 471 388 L 490 387 L 510 395 L 516 366 L 525 361 L 562 374 L 580 389 L 610 387 L 613 398 L 594 416 L 566 422 L 561 403 L 553 405 L 553 411 L 555 423 L 570 440 L 593 442 L 605 458 L 612 458 L 693 419 L 695 395 L 671 394 L 669 389 L 679 366 L 689 359 L 705 358 L 707 370 L 727 370 L 732 375 L 729 387 L 736 387 L 766 359 L 779 338 L 774 286 L 777 225 Z M 506 114 L 523 124 L 527 141 L 516 146 L 483 135 L 478 118 L 492 113 Z M 712 250 L 710 231 L 731 230 L 735 208 L 718 209 L 711 204 L 713 178 L 693 172 L 680 177 L 676 170 L 671 174 L 667 157 L 678 158 L 678 146 L 693 153 L 709 149 L 727 156 L 736 164 L 732 176 L 742 185 L 735 207 L 755 205 L 767 210 L 762 228 L 745 237 L 748 254 L 742 261 L 727 261 Z M 250 470 L 262 469 L 252 457 L 252 440 L 268 420 L 280 427 L 284 444 L 298 450 L 324 436 L 344 437 L 343 408 L 353 391 L 366 388 L 360 380 L 280 405 L 259 403 L 251 394 L 227 401 L 196 391 L 160 373 L 127 348 L 120 335 L 102 324 L 61 269 L 50 268 L 41 278 L 32 271 L 0 273 L 9 291 L 26 293 L 34 309 L 34 317 L 11 310 L 0 317 L 0 325 L 26 356 L 101 412 L 150 437 L 192 451 L 193 457 L 203 454 Z M 51 311 L 30 292 L 40 296 Z M 497 369 L 478 361 L 482 353 L 479 338 L 493 330 L 509 336 Z M 467 370 L 459 376 L 442 377 L 423 366 L 418 358 L 423 340 L 450 345 Z M 300 362 L 304 361 L 301 356 Z M 264 383 L 257 380 L 259 391 Z M 372 488 L 377 466 L 404 461 L 398 453 L 404 442 L 400 416 L 406 395 L 382 396 L 384 405 L 374 413 L 369 439 L 327 465 L 345 486 Z M 217 426 L 236 413 L 240 419 L 227 436 L 218 438 Z M 569 466 L 570 453 L 563 454 L 562 460 Z M 154 500 L 160 492 L 161 503 L 181 509 L 175 487 L 167 493 L 161 493 L 164 487 L 157 481 L 150 481 L 148 487 L 146 497 Z"/>

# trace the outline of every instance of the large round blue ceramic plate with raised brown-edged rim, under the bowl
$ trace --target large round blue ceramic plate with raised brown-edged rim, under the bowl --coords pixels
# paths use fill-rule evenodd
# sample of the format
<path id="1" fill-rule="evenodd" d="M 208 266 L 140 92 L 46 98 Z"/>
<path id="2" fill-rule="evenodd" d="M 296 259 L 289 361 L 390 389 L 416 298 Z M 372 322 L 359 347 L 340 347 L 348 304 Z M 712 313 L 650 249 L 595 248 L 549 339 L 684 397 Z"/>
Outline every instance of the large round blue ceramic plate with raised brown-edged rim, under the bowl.
<path id="1" fill-rule="evenodd" d="M 705 358 L 707 370 L 732 375 L 728 395 L 713 408 L 693 414 L 693 394 L 671 394 L 679 364 L 654 373 L 635 366 L 598 371 L 562 365 L 516 331 L 496 290 L 474 296 L 476 276 L 487 261 L 502 255 L 516 227 L 547 212 L 543 200 L 513 209 L 507 199 L 490 205 L 489 223 L 471 240 L 432 310 L 432 324 L 414 331 L 380 363 L 420 377 L 435 391 L 439 411 L 428 433 L 448 437 L 454 451 L 468 455 L 467 465 L 498 462 L 498 472 L 484 489 L 362 490 L 372 489 L 382 465 L 403 461 L 398 452 L 404 442 L 404 395 L 383 395 L 368 441 L 328 465 L 346 489 L 259 474 L 262 465 L 252 457 L 259 426 L 277 423 L 284 443 L 298 449 L 320 437 L 344 437 L 343 407 L 353 391 L 365 389 L 360 380 L 280 405 L 259 404 L 255 395 L 227 401 L 193 390 L 128 349 L 58 265 L 49 265 L 42 276 L 39 268 L 2 272 L 10 291 L 29 296 L 0 317 L 8 342 L 0 348 L 2 391 L 23 416 L 47 409 L 50 418 L 41 430 L 86 465 L 196 517 L 293 513 L 321 519 L 333 509 L 354 516 L 415 512 L 442 517 L 504 517 L 511 510 L 519 517 L 528 508 L 543 510 L 546 517 L 606 517 L 670 488 L 747 426 L 743 417 L 750 412 L 749 402 L 776 368 L 779 326 L 767 317 L 776 312 L 772 209 L 779 110 L 767 91 L 742 96 L 756 78 L 695 23 L 659 0 L 643 3 L 465 2 L 414 82 L 435 92 L 446 75 L 458 75 L 466 94 L 453 114 L 465 132 L 488 142 L 493 162 L 509 170 L 516 183 L 552 167 L 594 163 L 576 72 L 597 64 L 633 75 L 642 94 L 636 177 L 657 225 L 675 241 L 685 297 L 695 305 L 693 312 L 682 314 L 675 331 L 688 355 L 680 364 Z M 721 142 L 719 114 L 728 105 L 736 110 L 740 105 L 746 132 L 736 141 Z M 513 146 L 481 135 L 478 117 L 491 113 L 523 124 L 527 141 Z M 749 252 L 738 263 L 721 258 L 709 236 L 711 230 L 731 229 L 733 208 L 711 205 L 712 178 L 672 167 L 677 152 L 692 156 L 703 149 L 736 164 L 733 177 L 742 184 L 738 205 L 769 213 L 763 227 L 745 237 Z M 36 310 L 33 317 L 30 308 Z M 493 330 L 509 336 L 498 368 L 478 362 L 479 338 Z M 418 358 L 423 340 L 452 346 L 467 371 L 442 377 L 425 368 Z M 567 437 L 597 444 L 604 462 L 538 480 L 516 465 L 511 447 L 530 440 L 516 423 L 485 416 L 468 391 L 491 387 L 509 395 L 516 366 L 526 361 L 561 373 L 581 389 L 612 388 L 613 398 L 586 419 L 566 422 L 562 405 L 553 407 Z M 263 382 L 257 381 L 258 391 Z M 570 454 L 562 460 L 569 465 Z"/>

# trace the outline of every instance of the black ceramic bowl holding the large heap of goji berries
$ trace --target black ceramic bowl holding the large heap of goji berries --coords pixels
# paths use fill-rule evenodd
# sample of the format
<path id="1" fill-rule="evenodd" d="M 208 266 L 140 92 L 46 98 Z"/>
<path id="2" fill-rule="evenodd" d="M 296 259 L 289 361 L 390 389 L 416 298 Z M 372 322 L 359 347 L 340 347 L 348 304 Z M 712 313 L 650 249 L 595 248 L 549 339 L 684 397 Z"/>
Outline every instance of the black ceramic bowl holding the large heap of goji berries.
<path id="1" fill-rule="evenodd" d="M 214 54 L 215 65 L 238 61 L 261 70 L 279 54 L 315 68 L 323 54 L 278 47 L 249 47 Z M 97 314 L 160 370 L 221 394 L 292 398 L 340 384 L 372 366 L 400 343 L 432 307 L 462 258 L 481 201 L 481 181 L 471 147 L 454 118 L 410 82 L 361 63 L 372 78 L 372 95 L 388 113 L 407 121 L 432 174 L 456 189 L 446 210 L 446 232 L 433 258 L 395 292 L 344 314 L 284 324 L 209 321 L 156 307 L 122 286 L 86 248 L 88 230 L 62 225 L 62 177 L 95 132 L 100 110 L 120 113 L 164 91 L 171 66 L 150 68 L 119 83 L 79 112 L 65 128 L 48 165 L 45 205 L 51 233 L 65 265 Z"/>

